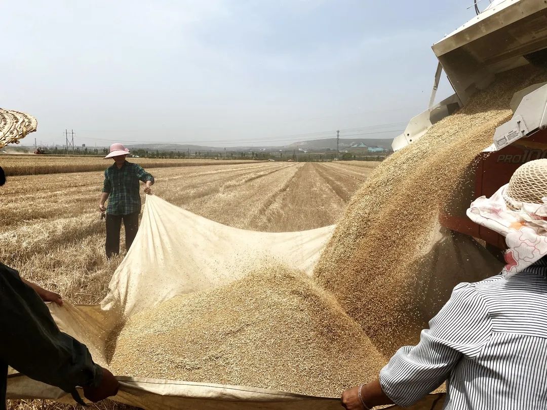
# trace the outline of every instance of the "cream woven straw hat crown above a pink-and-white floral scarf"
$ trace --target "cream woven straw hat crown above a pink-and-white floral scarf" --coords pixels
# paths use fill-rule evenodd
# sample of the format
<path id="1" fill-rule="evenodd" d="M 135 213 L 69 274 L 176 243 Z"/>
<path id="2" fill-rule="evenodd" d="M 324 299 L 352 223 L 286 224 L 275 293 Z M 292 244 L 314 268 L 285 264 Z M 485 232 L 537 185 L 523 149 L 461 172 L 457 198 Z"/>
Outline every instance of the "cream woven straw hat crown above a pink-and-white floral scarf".
<path id="1" fill-rule="evenodd" d="M 543 204 L 547 197 L 547 159 L 526 162 L 521 165 L 503 194 L 511 209 L 520 209 L 522 202 Z"/>

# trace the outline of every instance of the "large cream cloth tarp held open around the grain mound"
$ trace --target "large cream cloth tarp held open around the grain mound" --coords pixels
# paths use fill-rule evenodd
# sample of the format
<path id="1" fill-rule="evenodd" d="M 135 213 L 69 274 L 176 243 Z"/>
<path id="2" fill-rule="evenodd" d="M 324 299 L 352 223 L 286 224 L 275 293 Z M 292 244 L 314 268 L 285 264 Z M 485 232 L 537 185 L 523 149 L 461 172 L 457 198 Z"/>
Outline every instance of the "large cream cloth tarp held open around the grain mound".
<path id="1" fill-rule="evenodd" d="M 49 304 L 62 331 L 85 343 L 94 360 L 108 368 L 105 344 L 124 317 L 155 306 L 173 295 L 211 289 L 242 277 L 272 261 L 311 274 L 334 226 L 302 232 L 255 232 L 235 229 L 147 196 L 141 226 L 131 249 L 114 272 L 100 306 Z M 249 263 L 252 262 L 252 263 Z M 169 409 L 340 409 L 339 398 L 283 391 L 118 377 L 114 400 L 147 410 Z M 10 399 L 71 401 L 60 389 L 13 370 Z M 443 395 L 429 395 L 413 408 L 441 408 Z"/>

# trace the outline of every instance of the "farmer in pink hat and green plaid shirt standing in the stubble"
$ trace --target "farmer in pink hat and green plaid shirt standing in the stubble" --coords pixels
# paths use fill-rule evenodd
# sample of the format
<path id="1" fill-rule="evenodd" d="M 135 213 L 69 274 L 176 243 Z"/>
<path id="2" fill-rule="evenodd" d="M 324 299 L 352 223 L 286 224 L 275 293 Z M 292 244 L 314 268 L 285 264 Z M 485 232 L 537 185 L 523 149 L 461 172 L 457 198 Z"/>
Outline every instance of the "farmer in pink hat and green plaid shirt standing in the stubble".
<path id="1" fill-rule="evenodd" d="M 154 184 L 152 174 L 136 163 L 127 162 L 129 149 L 122 144 L 110 145 L 110 153 L 104 157 L 112 158 L 114 164 L 104 171 L 104 185 L 99 200 L 99 210 L 106 211 L 106 256 L 112 257 L 120 252 L 121 221 L 125 226 L 125 249 L 129 250 L 138 230 L 138 214 L 141 212 L 139 181 L 143 181 L 144 192 L 152 194 Z M 104 202 L 108 200 L 108 206 Z"/>

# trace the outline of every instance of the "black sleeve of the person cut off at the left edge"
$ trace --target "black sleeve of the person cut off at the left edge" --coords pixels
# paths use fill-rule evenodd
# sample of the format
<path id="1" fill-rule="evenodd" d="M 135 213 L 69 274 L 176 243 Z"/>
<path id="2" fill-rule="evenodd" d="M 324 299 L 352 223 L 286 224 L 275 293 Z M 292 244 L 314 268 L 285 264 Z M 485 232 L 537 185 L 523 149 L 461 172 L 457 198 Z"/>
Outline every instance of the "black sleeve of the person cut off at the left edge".
<path id="1" fill-rule="evenodd" d="M 84 344 L 59 330 L 38 294 L 0 263 L 0 362 L 68 393 L 97 386 L 102 370 Z"/>

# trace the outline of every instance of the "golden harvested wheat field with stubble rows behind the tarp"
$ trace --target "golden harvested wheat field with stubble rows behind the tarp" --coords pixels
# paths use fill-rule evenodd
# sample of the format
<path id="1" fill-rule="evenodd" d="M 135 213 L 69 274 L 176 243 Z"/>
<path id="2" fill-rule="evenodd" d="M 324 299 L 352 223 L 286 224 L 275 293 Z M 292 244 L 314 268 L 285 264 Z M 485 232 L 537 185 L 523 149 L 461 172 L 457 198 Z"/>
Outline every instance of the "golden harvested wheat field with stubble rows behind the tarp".
<path id="1" fill-rule="evenodd" d="M 334 224 L 377 165 L 210 162 L 215 165 L 147 166 L 156 178 L 153 193 L 222 224 L 270 232 Z M 105 225 L 97 209 L 102 181 L 101 171 L 9 177 L 0 188 L 0 260 L 65 300 L 100 302 L 123 259 L 104 256 Z M 13 401 L 8 408 L 73 407 L 33 400 Z M 104 402 L 94 408 L 126 407 Z"/>

